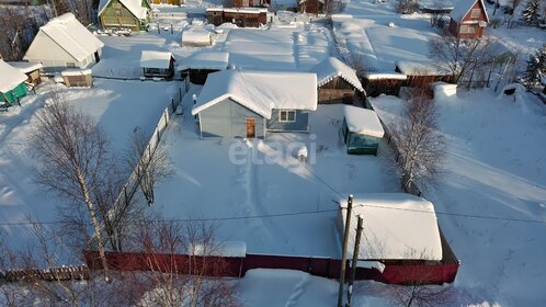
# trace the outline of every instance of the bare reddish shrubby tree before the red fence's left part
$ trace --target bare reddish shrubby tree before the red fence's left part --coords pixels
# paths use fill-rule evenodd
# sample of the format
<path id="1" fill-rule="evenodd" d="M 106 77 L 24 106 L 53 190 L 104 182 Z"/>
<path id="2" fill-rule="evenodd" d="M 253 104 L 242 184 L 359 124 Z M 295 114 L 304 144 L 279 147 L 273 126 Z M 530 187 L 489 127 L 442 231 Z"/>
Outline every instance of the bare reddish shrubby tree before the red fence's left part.
<path id="1" fill-rule="evenodd" d="M 130 282 L 118 293 L 126 302 L 159 306 L 239 306 L 220 276 L 227 266 L 206 223 L 145 221 L 135 248 L 146 254 L 144 271 L 127 274 Z M 190 254 L 190 258 L 181 257 Z"/>

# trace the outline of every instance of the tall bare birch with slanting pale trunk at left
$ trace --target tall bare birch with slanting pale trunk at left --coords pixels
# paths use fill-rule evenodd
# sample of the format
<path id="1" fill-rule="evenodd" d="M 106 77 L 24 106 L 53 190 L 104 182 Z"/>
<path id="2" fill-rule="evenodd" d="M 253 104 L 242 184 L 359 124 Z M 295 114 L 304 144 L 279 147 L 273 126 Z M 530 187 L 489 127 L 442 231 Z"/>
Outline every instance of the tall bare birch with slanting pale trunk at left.
<path id="1" fill-rule="evenodd" d="M 104 168 L 109 167 L 104 133 L 90 116 L 76 111 L 53 92 L 49 103 L 36 115 L 31 141 L 39 163 L 36 182 L 66 201 L 86 206 L 104 278 L 109 282 L 102 228 L 92 198 L 93 191 L 104 183 Z"/>

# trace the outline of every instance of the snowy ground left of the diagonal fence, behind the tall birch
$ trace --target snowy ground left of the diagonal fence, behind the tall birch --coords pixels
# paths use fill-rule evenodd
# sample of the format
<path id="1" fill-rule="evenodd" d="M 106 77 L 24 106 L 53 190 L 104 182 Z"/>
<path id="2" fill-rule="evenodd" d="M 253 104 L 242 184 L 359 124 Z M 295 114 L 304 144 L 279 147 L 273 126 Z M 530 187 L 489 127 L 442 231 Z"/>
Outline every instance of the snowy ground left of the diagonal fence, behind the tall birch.
<path id="1" fill-rule="evenodd" d="M 59 200 L 46 195 L 33 182 L 32 152 L 29 133 L 33 116 L 44 105 L 47 92 L 56 90 L 76 107 L 91 115 L 104 129 L 113 148 L 123 152 L 136 127 L 151 133 L 161 112 L 179 90 L 178 82 L 141 82 L 94 80 L 91 89 L 67 89 L 43 84 L 37 94 L 22 100 L 22 107 L 12 106 L 0 114 L 0 229 L 13 247 L 27 241 L 27 216 L 37 221 L 55 221 Z M 120 154 L 121 157 L 122 154 Z M 11 225 L 5 225 L 11 224 Z"/>

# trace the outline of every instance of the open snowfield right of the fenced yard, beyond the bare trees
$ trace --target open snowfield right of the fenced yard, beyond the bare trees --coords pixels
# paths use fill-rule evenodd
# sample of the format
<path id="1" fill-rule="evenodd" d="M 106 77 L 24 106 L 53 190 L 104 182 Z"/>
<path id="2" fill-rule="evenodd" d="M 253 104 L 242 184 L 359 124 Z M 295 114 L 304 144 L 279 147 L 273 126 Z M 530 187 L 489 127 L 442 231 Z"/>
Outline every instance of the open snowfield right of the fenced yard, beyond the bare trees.
<path id="1" fill-rule="evenodd" d="M 371 101 L 387 125 L 397 121 L 401 100 Z M 458 299 L 543 306 L 546 106 L 531 94 L 514 101 L 488 90 L 459 91 L 436 102 L 448 154 L 444 174 L 424 196 L 444 213 L 439 223 L 462 260 Z"/>

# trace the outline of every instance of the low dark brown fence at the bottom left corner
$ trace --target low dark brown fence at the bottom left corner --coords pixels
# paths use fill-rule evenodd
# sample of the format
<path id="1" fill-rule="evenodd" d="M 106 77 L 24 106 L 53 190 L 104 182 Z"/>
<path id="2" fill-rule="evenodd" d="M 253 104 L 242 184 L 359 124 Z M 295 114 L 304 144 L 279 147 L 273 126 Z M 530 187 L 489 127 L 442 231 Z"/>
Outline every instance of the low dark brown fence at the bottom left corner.
<path id="1" fill-rule="evenodd" d="M 0 281 L 13 282 L 35 282 L 35 281 L 84 281 L 89 280 L 89 269 L 87 265 L 61 266 L 52 269 L 29 269 L 10 270 L 0 272 Z"/>

